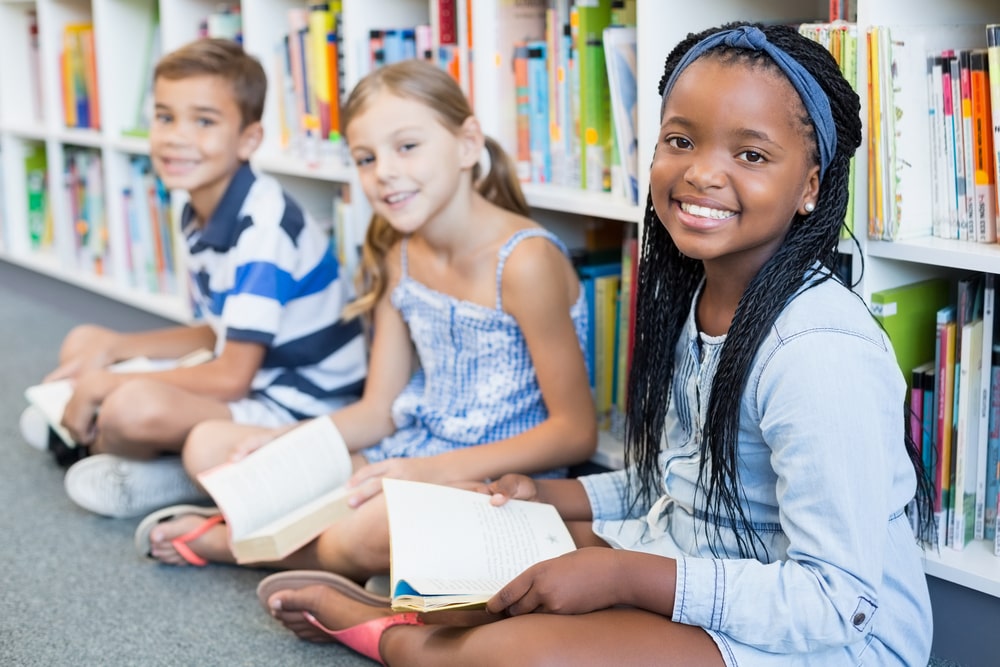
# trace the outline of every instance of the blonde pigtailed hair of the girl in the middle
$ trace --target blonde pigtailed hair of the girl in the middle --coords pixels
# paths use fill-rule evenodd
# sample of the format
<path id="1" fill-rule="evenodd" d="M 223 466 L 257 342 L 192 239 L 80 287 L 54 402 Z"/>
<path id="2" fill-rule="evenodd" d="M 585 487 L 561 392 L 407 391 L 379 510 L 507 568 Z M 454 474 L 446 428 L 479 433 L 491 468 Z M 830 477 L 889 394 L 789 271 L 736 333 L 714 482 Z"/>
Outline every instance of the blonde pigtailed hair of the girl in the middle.
<path id="1" fill-rule="evenodd" d="M 434 111 L 441 124 L 458 134 L 465 121 L 473 115 L 469 100 L 451 76 L 442 69 L 422 60 L 404 60 L 385 65 L 358 82 L 351 91 L 341 114 L 344 136 L 351 121 L 368 108 L 381 92 L 411 99 Z M 521 191 L 510 156 L 495 140 L 486 137 L 490 168 L 485 176 L 480 165 L 472 169 L 472 182 L 487 200 L 520 215 L 528 215 L 528 203 Z M 399 241 L 400 233 L 384 218 L 372 215 L 361 248 L 358 274 L 358 298 L 344 309 L 351 318 L 371 312 L 385 294 L 387 284 L 386 255 Z"/>

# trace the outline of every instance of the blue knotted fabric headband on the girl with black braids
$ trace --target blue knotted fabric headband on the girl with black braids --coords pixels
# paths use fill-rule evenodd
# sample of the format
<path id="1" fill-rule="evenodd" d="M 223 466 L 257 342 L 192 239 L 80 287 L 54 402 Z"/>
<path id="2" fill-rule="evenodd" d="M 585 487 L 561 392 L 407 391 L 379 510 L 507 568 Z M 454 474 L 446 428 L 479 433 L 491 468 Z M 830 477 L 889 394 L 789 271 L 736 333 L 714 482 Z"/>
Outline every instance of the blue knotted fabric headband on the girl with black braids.
<path id="1" fill-rule="evenodd" d="M 806 107 L 806 113 L 812 120 L 813 127 L 816 128 L 816 143 L 819 144 L 819 178 L 823 180 L 826 168 L 833 160 L 833 154 L 837 147 L 837 127 L 833 123 L 833 112 L 830 110 L 830 98 L 826 96 L 823 89 L 815 77 L 806 70 L 797 60 L 779 49 L 777 46 L 767 41 L 767 36 L 759 28 L 753 26 L 740 26 L 733 30 L 724 30 L 715 33 L 701 40 L 684 54 L 677 64 L 667 85 L 663 89 L 662 107 L 666 106 L 667 95 L 677 82 L 677 77 L 688 65 L 705 54 L 706 51 L 725 44 L 739 49 L 749 49 L 751 51 L 763 51 L 781 68 L 781 71 L 788 77 L 789 82 L 795 91 L 802 98 L 802 103 Z"/>

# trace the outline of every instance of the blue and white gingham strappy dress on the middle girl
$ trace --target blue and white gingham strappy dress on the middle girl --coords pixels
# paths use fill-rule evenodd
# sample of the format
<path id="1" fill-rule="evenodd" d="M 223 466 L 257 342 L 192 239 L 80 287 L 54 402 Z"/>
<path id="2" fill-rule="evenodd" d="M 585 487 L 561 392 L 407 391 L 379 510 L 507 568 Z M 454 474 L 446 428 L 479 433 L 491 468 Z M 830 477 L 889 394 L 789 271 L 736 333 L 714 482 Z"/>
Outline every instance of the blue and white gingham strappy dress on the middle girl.
<path id="1" fill-rule="evenodd" d="M 504 312 L 501 299 L 507 257 L 523 239 L 535 236 L 547 238 L 566 253 L 566 246 L 544 229 L 524 229 L 511 236 L 498 253 L 493 308 L 461 301 L 411 278 L 403 239 L 402 275 L 390 298 L 409 325 L 420 368 L 393 402 L 396 432 L 362 450 L 369 462 L 433 456 L 503 440 L 548 417 L 524 334 L 513 316 Z M 582 289 L 570 316 L 583 350 L 587 306 Z M 565 473 L 559 469 L 538 476 Z"/>

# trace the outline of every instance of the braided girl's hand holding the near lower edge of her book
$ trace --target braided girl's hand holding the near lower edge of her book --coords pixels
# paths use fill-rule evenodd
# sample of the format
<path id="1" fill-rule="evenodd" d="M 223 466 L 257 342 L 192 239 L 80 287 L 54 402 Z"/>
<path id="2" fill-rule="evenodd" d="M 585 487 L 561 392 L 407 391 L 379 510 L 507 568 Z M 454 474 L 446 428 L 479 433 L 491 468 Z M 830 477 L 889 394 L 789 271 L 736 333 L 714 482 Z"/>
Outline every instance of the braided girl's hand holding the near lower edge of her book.
<path id="1" fill-rule="evenodd" d="M 615 549 L 587 547 L 532 565 L 486 602 L 510 616 L 543 612 L 585 614 L 620 602 Z"/>

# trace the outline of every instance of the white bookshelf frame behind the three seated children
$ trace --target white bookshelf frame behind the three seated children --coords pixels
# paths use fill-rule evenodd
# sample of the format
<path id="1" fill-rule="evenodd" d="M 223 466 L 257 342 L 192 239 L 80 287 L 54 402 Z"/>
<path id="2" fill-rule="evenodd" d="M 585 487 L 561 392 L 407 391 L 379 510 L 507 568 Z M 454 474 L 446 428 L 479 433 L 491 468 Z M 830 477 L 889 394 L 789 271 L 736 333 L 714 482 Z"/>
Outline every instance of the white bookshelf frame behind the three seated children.
<path id="1" fill-rule="evenodd" d="M 471 83 L 477 115 L 487 133 L 494 134 L 500 124 L 496 101 L 488 94 L 495 69 L 490 67 L 490 52 L 495 42 L 494 25 L 488 19 L 513 0 L 476 0 L 457 2 L 458 41 L 471 38 L 475 58 L 460 56 L 465 81 Z M 0 259 L 49 276 L 78 284 L 114 299 L 136 305 L 177 321 L 190 317 L 185 297 L 178 293 L 150 294 L 128 283 L 128 257 L 125 251 L 125 219 L 122 207 L 114 204 L 127 179 L 129 160 L 148 152 L 142 138 L 125 133 L 136 120 L 138 94 L 148 71 L 147 44 L 151 36 L 170 50 L 198 34 L 198 24 L 216 10 L 216 0 L 5 0 L 0 1 L 0 186 L 3 196 L 0 220 Z M 269 73 L 275 59 L 275 47 L 287 31 L 287 12 L 308 3 L 302 0 L 242 0 L 243 43 L 258 56 Z M 829 0 L 705 0 L 687 3 L 683 11 L 678 2 L 636 0 L 637 80 L 638 80 L 638 164 L 640 200 L 648 188 L 643 165 L 652 159 L 657 127 L 659 100 L 656 86 L 669 49 L 689 32 L 736 19 L 764 22 L 823 21 L 828 17 Z M 853 4 L 853 3 L 852 3 Z M 472 7 L 476 20 L 469 21 L 466 11 Z M 343 84 L 345 89 L 356 82 L 368 68 L 367 39 L 375 28 L 413 26 L 440 21 L 437 0 L 344 0 L 342 6 Z M 37 50 L 32 48 L 29 12 L 37 22 Z M 154 23 L 154 18 L 159 17 Z M 97 86 L 101 100 L 101 125 L 98 129 L 69 128 L 63 122 L 59 87 L 59 51 L 63 27 L 71 23 L 91 22 L 95 32 Z M 962 24 L 966 27 L 1000 22 L 995 0 L 858 0 L 858 34 L 873 25 L 939 26 Z M 471 25 L 471 33 L 470 33 Z M 32 54 L 37 54 L 35 57 Z M 864 63 L 864 40 L 859 40 L 858 62 Z M 37 60 L 37 64 L 35 63 Z M 859 71 L 859 90 L 866 90 L 867 74 Z M 345 191 L 354 192 L 348 207 L 348 227 L 359 234 L 367 211 L 355 187 L 355 176 L 342 152 L 322 154 L 316 164 L 306 164 L 289 155 L 280 145 L 280 120 L 274 87 L 265 108 L 265 141 L 254 158 L 257 169 L 278 177 L 293 195 L 320 219 L 329 219 L 331 201 Z M 40 100 L 39 100 L 40 98 Z M 36 101 L 39 100 L 39 101 Z M 867 99 L 862 95 L 862 117 L 867 117 Z M 867 137 L 865 137 L 867 142 Z M 109 256 L 106 275 L 82 273 L 74 260 L 72 235 L 65 231 L 69 211 L 64 202 L 53 197 L 51 214 L 56 228 L 51 246 L 32 247 L 27 233 L 28 204 L 25 155 L 41 146 L 47 157 L 50 183 L 60 183 L 61 165 L 67 149 L 84 147 L 96 151 L 104 164 L 104 197 L 107 203 Z M 857 156 L 858 182 L 864 183 L 868 164 L 864 144 Z M 605 193 L 582 192 L 575 188 L 530 184 L 525 187 L 536 216 L 550 221 L 570 246 L 582 229 L 595 219 L 621 226 L 639 225 L 642 205 L 625 203 Z M 975 245 L 935 238 L 906 242 L 869 242 L 864 237 L 867 201 L 862 194 L 855 199 L 856 228 L 861 240 L 860 254 L 865 262 L 864 281 L 859 292 L 866 299 L 873 291 L 900 285 L 919 278 L 948 275 L 960 270 L 1000 273 L 1000 246 Z M 360 238 L 360 237 L 358 237 Z M 845 249 L 850 249 L 848 244 Z M 621 443 L 602 434 L 596 460 L 610 466 L 620 465 Z M 961 586 L 1000 597 L 1000 559 L 985 557 L 985 548 L 964 552 L 928 554 L 927 572 Z M 984 553 L 979 553 L 983 551 Z"/>

